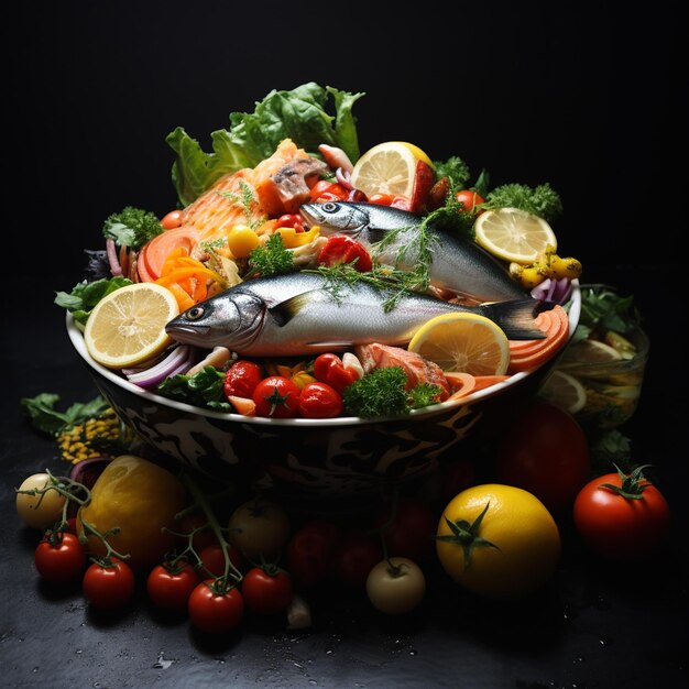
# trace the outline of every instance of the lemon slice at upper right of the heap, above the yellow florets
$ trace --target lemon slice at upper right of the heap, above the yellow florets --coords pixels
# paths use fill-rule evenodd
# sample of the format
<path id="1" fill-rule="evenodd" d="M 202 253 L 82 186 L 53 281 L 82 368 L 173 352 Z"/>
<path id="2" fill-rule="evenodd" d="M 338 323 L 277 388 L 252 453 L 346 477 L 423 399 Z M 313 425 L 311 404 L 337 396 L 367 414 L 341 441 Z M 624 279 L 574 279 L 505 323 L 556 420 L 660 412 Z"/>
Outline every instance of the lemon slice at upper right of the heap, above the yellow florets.
<path id="1" fill-rule="evenodd" d="M 486 210 L 473 228 L 477 243 L 505 261 L 527 265 L 548 245 L 557 249 L 553 228 L 543 218 L 518 208 Z"/>

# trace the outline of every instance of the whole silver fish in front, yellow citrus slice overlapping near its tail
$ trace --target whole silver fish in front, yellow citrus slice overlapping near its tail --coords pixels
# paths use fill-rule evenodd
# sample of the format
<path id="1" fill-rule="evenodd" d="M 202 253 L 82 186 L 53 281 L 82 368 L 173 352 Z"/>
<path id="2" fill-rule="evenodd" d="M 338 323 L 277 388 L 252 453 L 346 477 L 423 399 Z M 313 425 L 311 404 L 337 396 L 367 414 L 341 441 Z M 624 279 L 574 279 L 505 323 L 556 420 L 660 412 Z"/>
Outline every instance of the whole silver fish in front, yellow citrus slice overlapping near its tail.
<path id="1" fill-rule="evenodd" d="M 491 318 L 511 339 L 539 339 L 536 311 L 549 303 L 533 298 L 481 306 L 458 306 L 426 294 L 396 292 L 358 281 L 297 272 L 256 277 L 234 285 L 173 318 L 166 332 L 176 341 L 217 346 L 247 357 L 293 357 L 342 351 L 381 342 L 404 346 L 427 320 L 470 311 Z"/>

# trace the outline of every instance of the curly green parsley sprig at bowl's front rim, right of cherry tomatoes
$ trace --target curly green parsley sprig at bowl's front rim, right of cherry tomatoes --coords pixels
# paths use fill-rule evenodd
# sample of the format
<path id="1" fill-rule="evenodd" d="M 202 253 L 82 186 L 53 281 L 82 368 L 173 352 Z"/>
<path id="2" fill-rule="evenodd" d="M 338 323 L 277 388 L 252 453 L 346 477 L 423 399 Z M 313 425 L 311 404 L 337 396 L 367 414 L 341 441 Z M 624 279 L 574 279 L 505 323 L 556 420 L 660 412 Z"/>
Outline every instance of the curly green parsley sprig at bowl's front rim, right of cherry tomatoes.
<path id="1" fill-rule="evenodd" d="M 352 416 L 403 416 L 438 402 L 440 387 L 419 383 L 407 392 L 407 375 L 401 367 L 375 369 L 344 390 L 344 409 Z"/>

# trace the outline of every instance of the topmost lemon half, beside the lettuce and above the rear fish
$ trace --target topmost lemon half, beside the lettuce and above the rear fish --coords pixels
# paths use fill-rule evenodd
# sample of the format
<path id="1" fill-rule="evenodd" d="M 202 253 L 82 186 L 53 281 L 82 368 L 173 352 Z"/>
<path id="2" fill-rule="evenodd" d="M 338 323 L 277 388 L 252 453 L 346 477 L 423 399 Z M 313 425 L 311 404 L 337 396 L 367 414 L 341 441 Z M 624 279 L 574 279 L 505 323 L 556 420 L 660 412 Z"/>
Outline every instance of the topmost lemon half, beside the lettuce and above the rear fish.
<path id="1" fill-rule="evenodd" d="M 357 161 L 351 183 L 367 196 L 401 194 L 411 197 L 418 161 L 433 166 L 426 153 L 414 144 L 405 141 L 379 143 Z"/>

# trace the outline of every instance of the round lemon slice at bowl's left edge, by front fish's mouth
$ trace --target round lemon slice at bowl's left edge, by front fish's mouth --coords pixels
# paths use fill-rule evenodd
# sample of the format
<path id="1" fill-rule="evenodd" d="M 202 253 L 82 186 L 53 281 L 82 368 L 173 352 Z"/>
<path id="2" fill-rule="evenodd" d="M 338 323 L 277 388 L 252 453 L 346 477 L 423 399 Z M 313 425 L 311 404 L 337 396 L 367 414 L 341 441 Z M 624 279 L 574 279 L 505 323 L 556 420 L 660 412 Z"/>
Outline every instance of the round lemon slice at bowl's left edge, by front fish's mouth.
<path id="1" fill-rule="evenodd" d="M 84 343 L 103 367 L 133 367 L 171 344 L 165 324 L 178 314 L 177 300 L 162 285 L 146 282 L 120 287 L 91 311 Z"/>

